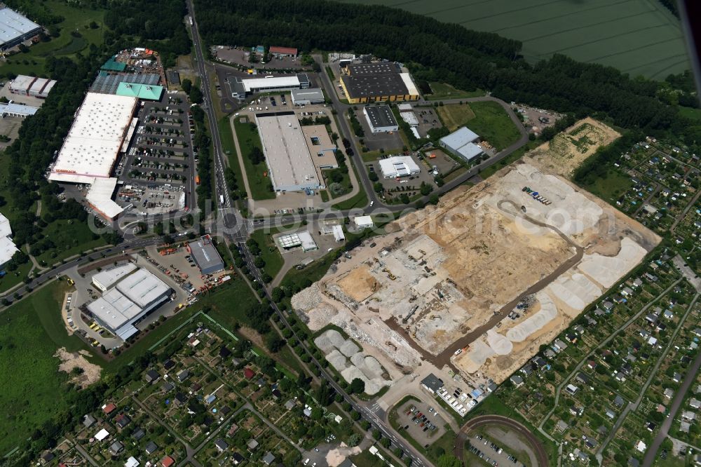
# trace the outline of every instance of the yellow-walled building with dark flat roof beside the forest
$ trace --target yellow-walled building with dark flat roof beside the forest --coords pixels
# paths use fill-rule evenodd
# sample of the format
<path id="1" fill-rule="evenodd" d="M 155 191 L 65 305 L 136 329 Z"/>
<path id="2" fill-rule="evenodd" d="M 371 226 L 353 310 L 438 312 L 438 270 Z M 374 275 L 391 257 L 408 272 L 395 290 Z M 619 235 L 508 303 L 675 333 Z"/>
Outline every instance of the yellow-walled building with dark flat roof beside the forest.
<path id="1" fill-rule="evenodd" d="M 341 76 L 341 88 L 351 104 L 387 100 L 410 101 L 421 97 L 409 73 L 397 63 L 352 63 Z"/>

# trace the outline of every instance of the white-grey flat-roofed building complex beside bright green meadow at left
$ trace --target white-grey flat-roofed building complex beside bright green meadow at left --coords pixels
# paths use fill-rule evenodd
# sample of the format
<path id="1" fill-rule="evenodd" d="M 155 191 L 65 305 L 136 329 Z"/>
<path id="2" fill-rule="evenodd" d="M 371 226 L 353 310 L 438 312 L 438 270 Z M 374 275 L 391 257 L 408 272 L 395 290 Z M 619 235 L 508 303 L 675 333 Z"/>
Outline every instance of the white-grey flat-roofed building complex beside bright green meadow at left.
<path id="1" fill-rule="evenodd" d="M 132 273 L 124 271 L 116 268 L 111 276 L 97 278 L 97 283 L 109 283 L 112 287 L 86 308 L 97 323 L 126 340 L 138 332 L 135 324 L 139 320 L 168 301 L 172 289 L 147 269 L 136 269 Z"/>

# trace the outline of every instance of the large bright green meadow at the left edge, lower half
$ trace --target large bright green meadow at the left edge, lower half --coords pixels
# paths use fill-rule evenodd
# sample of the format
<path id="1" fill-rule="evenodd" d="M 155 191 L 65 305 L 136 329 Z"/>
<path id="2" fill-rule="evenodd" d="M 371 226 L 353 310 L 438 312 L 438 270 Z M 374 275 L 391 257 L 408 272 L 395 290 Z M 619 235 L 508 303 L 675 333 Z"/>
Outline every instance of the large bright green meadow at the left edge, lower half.
<path id="1" fill-rule="evenodd" d="M 67 374 L 58 372 L 57 348 L 88 348 L 69 336 L 60 320 L 65 282 L 43 287 L 10 306 L 0 320 L 0 454 L 13 449 L 37 426 L 68 407 Z M 100 359 L 89 358 L 100 364 Z M 18 371 L 20 370 L 21 371 Z"/>

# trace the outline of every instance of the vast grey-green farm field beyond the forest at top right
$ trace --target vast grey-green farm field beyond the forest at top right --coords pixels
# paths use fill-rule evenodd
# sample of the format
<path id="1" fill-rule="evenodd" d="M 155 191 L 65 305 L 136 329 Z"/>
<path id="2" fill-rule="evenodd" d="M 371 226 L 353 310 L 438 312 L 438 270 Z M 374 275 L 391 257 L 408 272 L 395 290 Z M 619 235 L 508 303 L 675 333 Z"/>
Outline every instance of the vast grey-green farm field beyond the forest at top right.
<path id="1" fill-rule="evenodd" d="M 523 42 L 526 60 L 554 53 L 664 79 L 689 69 L 679 20 L 658 0 L 340 0 L 396 6 Z"/>

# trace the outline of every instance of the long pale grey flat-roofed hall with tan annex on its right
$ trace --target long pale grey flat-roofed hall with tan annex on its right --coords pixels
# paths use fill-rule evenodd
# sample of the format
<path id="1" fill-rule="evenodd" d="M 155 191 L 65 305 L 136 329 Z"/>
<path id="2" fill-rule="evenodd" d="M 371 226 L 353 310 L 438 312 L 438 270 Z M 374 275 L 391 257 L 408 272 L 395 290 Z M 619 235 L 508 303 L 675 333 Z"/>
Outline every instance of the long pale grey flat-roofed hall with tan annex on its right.
<path id="1" fill-rule="evenodd" d="M 324 187 L 294 112 L 257 114 L 255 119 L 273 190 L 304 191 Z"/>

